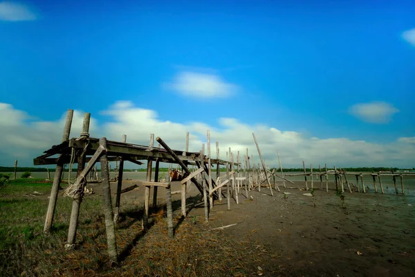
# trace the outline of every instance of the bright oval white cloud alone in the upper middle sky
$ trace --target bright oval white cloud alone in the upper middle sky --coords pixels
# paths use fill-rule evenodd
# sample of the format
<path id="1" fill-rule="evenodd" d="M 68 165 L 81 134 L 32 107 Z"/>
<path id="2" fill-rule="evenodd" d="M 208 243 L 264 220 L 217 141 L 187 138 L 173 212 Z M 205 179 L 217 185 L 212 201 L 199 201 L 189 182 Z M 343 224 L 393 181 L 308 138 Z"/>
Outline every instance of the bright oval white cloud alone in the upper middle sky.
<path id="1" fill-rule="evenodd" d="M 194 98 L 225 98 L 238 89 L 237 85 L 225 82 L 219 75 L 190 71 L 178 73 L 165 87 Z"/>

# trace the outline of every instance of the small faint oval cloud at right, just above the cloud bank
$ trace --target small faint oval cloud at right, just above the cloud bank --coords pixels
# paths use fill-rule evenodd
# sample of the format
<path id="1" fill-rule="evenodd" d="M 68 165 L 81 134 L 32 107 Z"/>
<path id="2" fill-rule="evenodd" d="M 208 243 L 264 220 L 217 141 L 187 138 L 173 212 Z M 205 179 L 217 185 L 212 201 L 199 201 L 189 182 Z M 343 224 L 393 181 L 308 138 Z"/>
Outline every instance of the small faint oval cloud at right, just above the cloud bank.
<path id="1" fill-rule="evenodd" d="M 399 110 L 387 102 L 358 103 L 349 108 L 349 113 L 367 123 L 389 123 Z"/>

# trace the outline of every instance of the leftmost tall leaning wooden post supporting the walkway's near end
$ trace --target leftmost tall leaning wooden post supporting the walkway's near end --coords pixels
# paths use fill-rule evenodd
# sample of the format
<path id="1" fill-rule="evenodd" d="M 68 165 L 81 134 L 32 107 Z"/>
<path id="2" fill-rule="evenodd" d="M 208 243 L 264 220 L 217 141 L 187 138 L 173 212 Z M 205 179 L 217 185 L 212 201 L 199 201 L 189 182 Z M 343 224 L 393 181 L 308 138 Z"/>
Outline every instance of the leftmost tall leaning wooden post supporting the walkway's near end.
<path id="1" fill-rule="evenodd" d="M 73 118 L 73 109 L 68 109 L 68 113 L 66 114 L 66 121 L 65 121 L 65 127 L 64 127 L 64 134 L 62 136 L 62 142 L 67 141 L 69 139 L 69 134 L 71 134 L 72 118 Z M 57 158 L 55 175 L 53 175 L 53 185 L 52 185 L 52 189 L 50 190 L 48 211 L 46 213 L 46 219 L 45 219 L 45 224 L 44 224 L 44 233 L 48 233 L 50 231 L 50 227 L 52 226 L 53 215 L 55 213 L 55 207 L 56 207 L 56 201 L 57 201 L 57 193 L 59 192 L 59 186 L 61 182 L 63 166 L 64 166 L 64 163 L 62 162 L 62 154 L 59 154 L 59 157 Z"/>

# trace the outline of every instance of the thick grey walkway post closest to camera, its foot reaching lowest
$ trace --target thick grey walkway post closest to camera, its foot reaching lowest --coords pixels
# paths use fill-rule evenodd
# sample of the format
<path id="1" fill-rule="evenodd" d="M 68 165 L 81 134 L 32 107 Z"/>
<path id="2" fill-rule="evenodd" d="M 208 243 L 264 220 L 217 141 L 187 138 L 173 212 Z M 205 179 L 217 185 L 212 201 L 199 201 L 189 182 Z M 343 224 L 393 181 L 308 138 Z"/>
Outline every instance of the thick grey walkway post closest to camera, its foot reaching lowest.
<path id="1" fill-rule="evenodd" d="M 100 146 L 107 148 L 107 139 L 100 139 Z M 118 263 L 116 228 L 113 222 L 113 210 L 111 203 L 111 187 L 109 184 L 109 168 L 107 163 L 107 153 L 102 154 L 101 163 L 101 179 L 102 179 L 102 196 L 104 198 L 104 216 L 105 229 L 107 231 L 107 244 L 109 258 L 112 263 Z M 78 164 L 79 166 L 79 164 Z"/>

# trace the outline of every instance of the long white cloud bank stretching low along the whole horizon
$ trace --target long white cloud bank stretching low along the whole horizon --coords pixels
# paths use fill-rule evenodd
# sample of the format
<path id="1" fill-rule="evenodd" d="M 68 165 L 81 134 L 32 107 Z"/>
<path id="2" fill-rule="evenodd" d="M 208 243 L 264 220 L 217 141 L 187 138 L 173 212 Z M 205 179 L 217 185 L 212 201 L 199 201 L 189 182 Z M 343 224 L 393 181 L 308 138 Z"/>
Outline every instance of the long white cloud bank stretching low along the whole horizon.
<path id="1" fill-rule="evenodd" d="M 0 118 L 0 165 L 12 166 L 16 158 L 21 166 L 31 166 L 32 159 L 44 150 L 59 144 L 62 139 L 65 114 L 53 121 L 27 122 L 28 114 L 14 109 L 11 105 L 1 105 Z M 104 114 L 106 122 L 97 123 L 91 118 L 92 137 L 106 136 L 113 141 L 121 141 L 127 134 L 127 142 L 148 145 L 149 134 L 160 136 L 171 148 L 184 150 L 185 135 L 190 132 L 190 151 L 199 152 L 206 143 L 209 129 L 212 142 L 212 155 L 216 157 L 215 142 L 219 141 L 221 158 L 225 159 L 228 148 L 237 151 L 241 157 L 254 155 L 259 163 L 257 148 L 252 138 L 255 132 L 261 152 L 269 166 L 277 166 L 277 150 L 284 167 L 302 167 L 302 161 L 309 165 L 327 163 L 327 166 L 397 166 L 412 168 L 415 164 L 415 137 L 397 138 L 391 143 L 370 143 L 352 141 L 346 138 L 318 139 L 308 138 L 299 132 L 282 131 L 267 125 L 248 125 L 235 118 L 219 118 L 218 124 L 176 123 L 158 119 L 156 111 L 140 109 L 128 101 L 116 102 Z M 93 115 L 92 115 L 93 116 Z M 71 137 L 79 136 L 82 127 L 82 111 L 75 111 Z M 157 146 L 157 142 L 155 141 Z M 205 149 L 206 146 L 205 146 Z M 130 165 L 131 166 L 131 165 Z M 134 166 L 135 167 L 135 166 Z"/>

